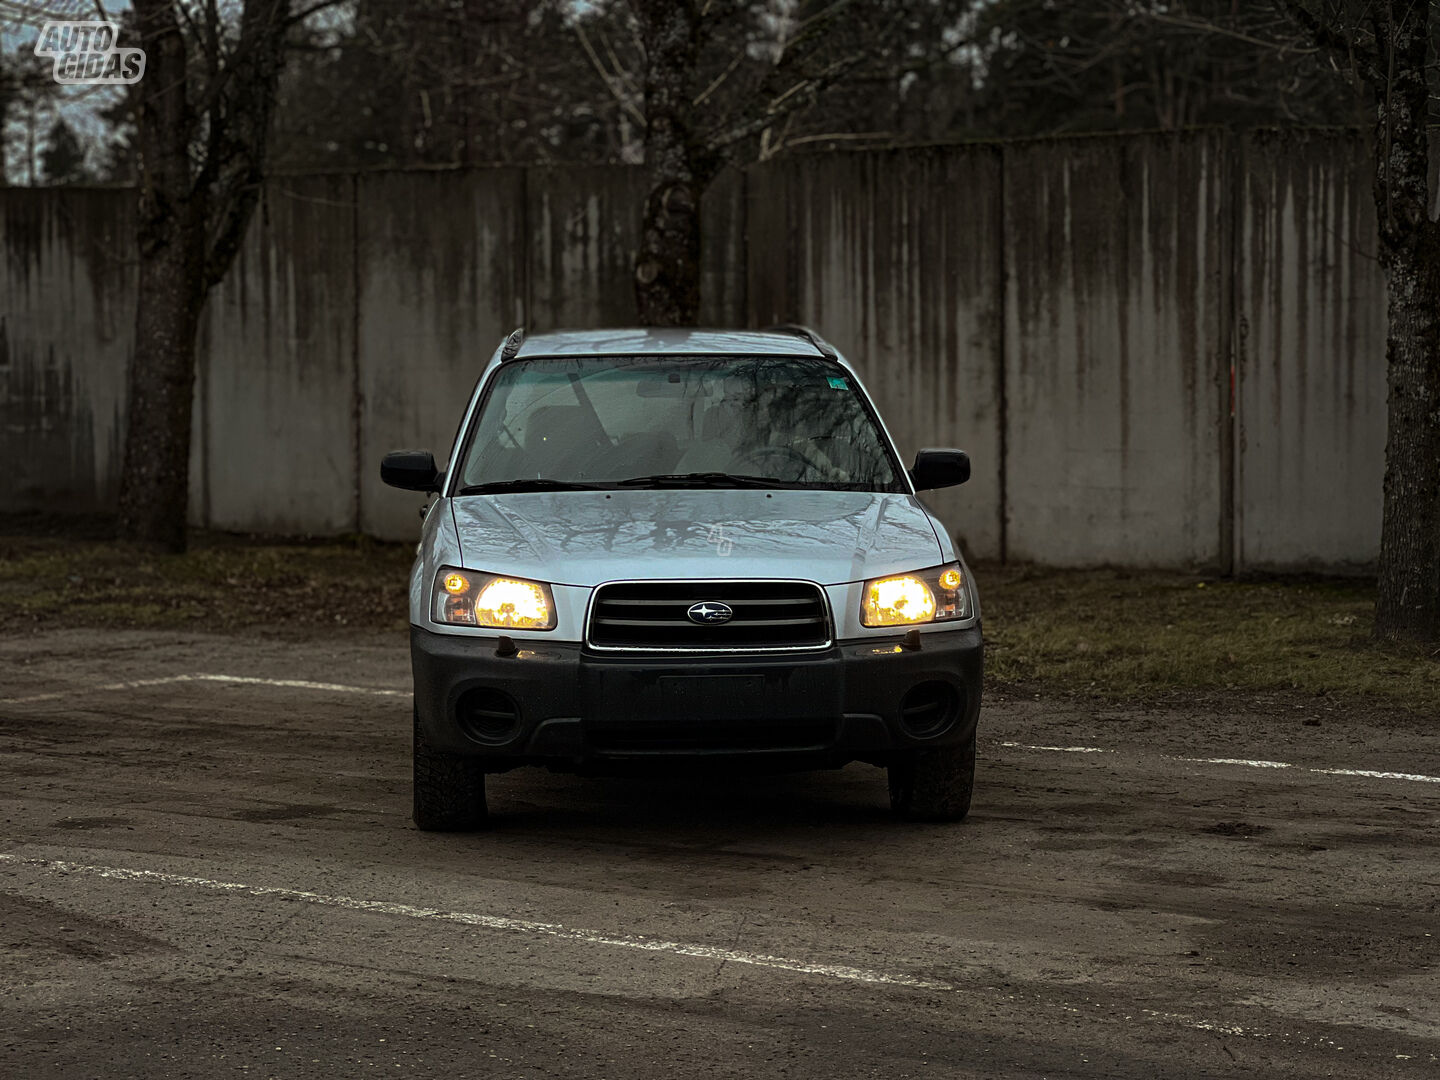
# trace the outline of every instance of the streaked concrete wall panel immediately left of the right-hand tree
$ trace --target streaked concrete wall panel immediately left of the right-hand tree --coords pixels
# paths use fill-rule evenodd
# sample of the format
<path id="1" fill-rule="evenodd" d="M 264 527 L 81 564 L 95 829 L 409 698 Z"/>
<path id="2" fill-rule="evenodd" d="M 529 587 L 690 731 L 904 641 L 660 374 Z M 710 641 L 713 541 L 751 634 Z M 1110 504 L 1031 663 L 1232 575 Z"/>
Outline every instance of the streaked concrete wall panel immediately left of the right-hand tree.
<path id="1" fill-rule="evenodd" d="M 1355 138 L 1244 147 L 1237 559 L 1344 569 L 1380 553 L 1385 276 Z"/>

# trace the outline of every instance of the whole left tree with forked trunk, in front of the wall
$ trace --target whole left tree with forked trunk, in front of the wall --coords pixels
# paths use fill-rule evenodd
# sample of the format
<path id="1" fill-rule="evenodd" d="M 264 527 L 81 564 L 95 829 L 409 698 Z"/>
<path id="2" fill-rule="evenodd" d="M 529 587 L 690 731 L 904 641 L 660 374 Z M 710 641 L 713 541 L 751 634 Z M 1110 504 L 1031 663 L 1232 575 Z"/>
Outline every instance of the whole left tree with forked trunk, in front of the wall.
<path id="1" fill-rule="evenodd" d="M 229 16 L 229 17 L 228 17 Z M 186 543 L 194 337 L 261 193 L 292 0 L 135 0 L 140 282 L 120 537 Z"/>

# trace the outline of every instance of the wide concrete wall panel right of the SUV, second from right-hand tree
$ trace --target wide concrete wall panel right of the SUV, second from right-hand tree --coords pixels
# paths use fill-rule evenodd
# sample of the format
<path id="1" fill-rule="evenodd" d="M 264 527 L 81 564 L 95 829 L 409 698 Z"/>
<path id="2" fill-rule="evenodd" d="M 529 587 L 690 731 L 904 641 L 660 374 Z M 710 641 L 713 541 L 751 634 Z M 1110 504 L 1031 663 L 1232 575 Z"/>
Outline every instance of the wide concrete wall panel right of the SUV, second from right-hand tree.
<path id="1" fill-rule="evenodd" d="M 1217 566 L 1221 137 L 1004 154 L 1008 554 Z"/>

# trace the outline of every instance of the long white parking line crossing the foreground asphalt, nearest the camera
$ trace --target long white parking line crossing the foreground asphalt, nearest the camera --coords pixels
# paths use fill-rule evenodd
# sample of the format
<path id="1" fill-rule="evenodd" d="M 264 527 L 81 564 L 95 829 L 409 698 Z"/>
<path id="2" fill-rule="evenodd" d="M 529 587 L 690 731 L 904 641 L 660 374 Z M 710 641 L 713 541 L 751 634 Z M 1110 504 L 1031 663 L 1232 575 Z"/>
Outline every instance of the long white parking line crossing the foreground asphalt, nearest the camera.
<path id="1" fill-rule="evenodd" d="M 727 960 L 730 963 L 747 963 L 756 968 L 778 968 L 802 975 L 821 975 L 829 979 L 845 979 L 847 982 L 871 982 L 890 986 L 910 986 L 912 989 L 955 991 L 958 986 L 949 982 L 922 979 L 914 975 L 896 972 L 870 971 L 867 968 L 852 968 L 845 963 L 816 963 L 811 960 L 793 960 L 785 956 L 770 956 L 769 953 L 743 952 L 740 949 L 717 949 L 710 945 L 687 945 L 685 942 L 667 942 L 658 937 L 635 937 L 631 935 L 603 933 L 600 930 L 582 930 L 560 923 L 537 923 L 530 919 L 510 919 L 498 914 L 477 914 L 474 912 L 445 912 L 433 907 L 415 907 L 412 904 L 395 904 L 383 900 L 357 900 L 348 896 L 327 896 L 324 893 L 307 893 L 300 888 L 279 888 L 275 886 L 251 886 L 240 881 L 213 881 L 207 877 L 187 877 L 184 874 L 166 874 L 158 870 L 130 870 L 125 867 L 85 865 L 82 863 L 63 863 L 49 858 L 26 858 L 23 855 L 0 854 L 0 863 L 12 865 L 33 867 L 53 874 L 88 874 L 114 881 L 145 881 L 160 886 L 177 886 L 183 888 L 206 888 L 219 893 L 255 897 L 278 897 L 281 900 L 300 900 L 307 904 L 321 904 L 324 907 L 343 907 L 351 912 L 373 912 L 376 914 L 395 914 L 405 919 L 426 919 L 441 923 L 461 923 L 462 926 L 478 926 L 485 930 L 511 930 L 518 933 L 540 935 L 546 937 L 563 937 L 589 945 L 609 945 L 621 949 L 641 949 L 644 952 L 668 952 L 677 956 L 697 956 L 704 960 Z"/>

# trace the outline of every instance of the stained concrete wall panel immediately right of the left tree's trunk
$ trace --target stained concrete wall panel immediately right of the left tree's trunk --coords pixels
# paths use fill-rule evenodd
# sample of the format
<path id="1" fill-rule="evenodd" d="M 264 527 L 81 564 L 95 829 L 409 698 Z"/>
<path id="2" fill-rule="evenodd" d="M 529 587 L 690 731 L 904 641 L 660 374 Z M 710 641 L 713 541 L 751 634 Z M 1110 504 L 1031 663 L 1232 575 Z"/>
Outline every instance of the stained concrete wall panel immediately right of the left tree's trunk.
<path id="1" fill-rule="evenodd" d="M 348 176 L 266 184 L 206 308 L 199 521 L 275 534 L 356 527 L 356 217 Z"/>

